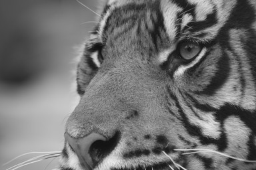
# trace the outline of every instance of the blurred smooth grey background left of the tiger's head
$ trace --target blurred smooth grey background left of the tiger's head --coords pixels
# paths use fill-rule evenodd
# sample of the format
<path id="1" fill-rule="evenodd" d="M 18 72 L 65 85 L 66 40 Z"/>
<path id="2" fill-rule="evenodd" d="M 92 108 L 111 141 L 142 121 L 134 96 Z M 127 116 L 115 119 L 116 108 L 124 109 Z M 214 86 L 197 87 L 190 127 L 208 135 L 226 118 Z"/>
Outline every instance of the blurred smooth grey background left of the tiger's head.
<path id="1" fill-rule="evenodd" d="M 80 0 L 93 10 L 97 1 Z M 74 46 L 89 35 L 95 14 L 76 0 L 0 0 L 0 169 L 31 151 L 61 151 L 75 102 Z M 22 169 L 53 169 L 57 159 Z"/>

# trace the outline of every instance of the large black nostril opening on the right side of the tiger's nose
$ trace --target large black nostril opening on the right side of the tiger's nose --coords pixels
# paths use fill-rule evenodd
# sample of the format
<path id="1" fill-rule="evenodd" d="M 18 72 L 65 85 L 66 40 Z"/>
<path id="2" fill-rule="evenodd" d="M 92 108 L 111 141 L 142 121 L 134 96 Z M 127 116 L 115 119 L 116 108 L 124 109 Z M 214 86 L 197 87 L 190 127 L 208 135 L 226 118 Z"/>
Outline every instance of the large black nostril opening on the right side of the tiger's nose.
<path id="1" fill-rule="evenodd" d="M 89 155 L 91 156 L 93 164 L 99 164 L 104 159 L 104 157 L 109 155 L 111 151 L 113 151 L 117 146 L 119 139 L 120 132 L 118 131 L 113 137 L 111 137 L 111 139 L 107 141 L 95 141 L 89 149 Z"/>

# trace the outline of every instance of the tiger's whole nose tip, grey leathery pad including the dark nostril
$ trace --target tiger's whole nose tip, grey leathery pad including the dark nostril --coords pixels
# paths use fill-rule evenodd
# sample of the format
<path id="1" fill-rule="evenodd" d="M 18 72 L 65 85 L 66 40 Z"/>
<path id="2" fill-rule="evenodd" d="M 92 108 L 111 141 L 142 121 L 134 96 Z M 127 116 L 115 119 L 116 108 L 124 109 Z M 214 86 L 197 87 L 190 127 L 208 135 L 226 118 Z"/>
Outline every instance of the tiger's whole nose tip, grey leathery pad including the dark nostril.
<path id="1" fill-rule="evenodd" d="M 81 165 L 85 169 L 93 169 L 115 149 L 120 133 L 115 133 L 109 140 L 98 133 L 91 133 L 83 138 L 74 138 L 65 133 L 65 139 L 79 157 Z"/>

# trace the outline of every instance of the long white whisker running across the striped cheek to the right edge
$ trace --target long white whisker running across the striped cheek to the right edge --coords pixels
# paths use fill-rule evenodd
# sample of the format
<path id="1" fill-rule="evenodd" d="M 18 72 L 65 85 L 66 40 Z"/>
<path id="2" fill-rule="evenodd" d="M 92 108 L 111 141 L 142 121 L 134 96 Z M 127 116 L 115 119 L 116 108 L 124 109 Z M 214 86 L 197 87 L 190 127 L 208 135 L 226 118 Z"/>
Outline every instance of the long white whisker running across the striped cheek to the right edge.
<path id="1" fill-rule="evenodd" d="M 243 162 L 247 162 L 247 163 L 256 163 L 256 160 L 251 161 L 251 160 L 247 160 L 247 159 L 241 159 L 238 157 L 233 157 L 231 155 L 227 155 L 225 153 L 221 153 L 219 151 L 213 151 L 211 149 L 174 149 L 175 151 L 193 151 L 193 152 L 189 152 L 189 153 L 183 153 L 183 155 L 189 155 L 189 154 L 195 154 L 195 153 L 206 153 L 206 152 L 211 152 L 211 153 L 217 153 L 219 155 L 222 155 L 224 157 L 228 157 L 231 159 L 235 159 L 237 161 L 243 161 Z"/>

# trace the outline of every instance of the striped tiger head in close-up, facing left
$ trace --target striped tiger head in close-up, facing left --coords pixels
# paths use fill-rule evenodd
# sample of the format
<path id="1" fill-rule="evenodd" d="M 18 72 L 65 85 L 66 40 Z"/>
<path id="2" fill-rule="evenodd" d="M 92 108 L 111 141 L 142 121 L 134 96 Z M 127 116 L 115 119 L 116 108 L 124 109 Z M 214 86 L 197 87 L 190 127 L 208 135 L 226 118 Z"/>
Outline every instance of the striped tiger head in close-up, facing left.
<path id="1" fill-rule="evenodd" d="M 59 169 L 256 169 L 255 7 L 106 1 Z"/>

